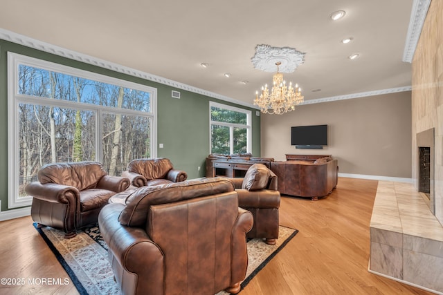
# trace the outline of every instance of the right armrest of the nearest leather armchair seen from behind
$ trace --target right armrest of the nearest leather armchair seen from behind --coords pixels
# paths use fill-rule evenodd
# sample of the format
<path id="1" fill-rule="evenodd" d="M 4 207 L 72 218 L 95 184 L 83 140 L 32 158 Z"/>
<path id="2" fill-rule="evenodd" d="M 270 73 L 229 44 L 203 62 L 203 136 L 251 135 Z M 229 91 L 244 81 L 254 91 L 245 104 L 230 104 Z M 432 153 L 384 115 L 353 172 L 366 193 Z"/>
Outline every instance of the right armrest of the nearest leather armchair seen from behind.
<path id="1" fill-rule="evenodd" d="M 237 220 L 235 220 L 232 232 L 231 285 L 244 280 L 246 276 L 248 253 L 244 241 L 246 234 L 252 229 L 253 223 L 252 213 L 238 207 Z"/>

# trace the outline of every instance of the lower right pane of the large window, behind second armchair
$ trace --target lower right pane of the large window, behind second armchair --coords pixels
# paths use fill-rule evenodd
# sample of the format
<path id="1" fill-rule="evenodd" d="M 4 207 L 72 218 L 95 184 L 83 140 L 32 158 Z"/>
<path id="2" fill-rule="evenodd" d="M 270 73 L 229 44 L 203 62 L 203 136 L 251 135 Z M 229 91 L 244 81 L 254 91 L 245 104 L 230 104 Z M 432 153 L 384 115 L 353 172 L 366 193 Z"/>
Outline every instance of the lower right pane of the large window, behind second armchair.
<path id="1" fill-rule="evenodd" d="M 120 176 L 134 159 L 150 158 L 151 119 L 134 115 L 103 114 L 103 166 Z"/>

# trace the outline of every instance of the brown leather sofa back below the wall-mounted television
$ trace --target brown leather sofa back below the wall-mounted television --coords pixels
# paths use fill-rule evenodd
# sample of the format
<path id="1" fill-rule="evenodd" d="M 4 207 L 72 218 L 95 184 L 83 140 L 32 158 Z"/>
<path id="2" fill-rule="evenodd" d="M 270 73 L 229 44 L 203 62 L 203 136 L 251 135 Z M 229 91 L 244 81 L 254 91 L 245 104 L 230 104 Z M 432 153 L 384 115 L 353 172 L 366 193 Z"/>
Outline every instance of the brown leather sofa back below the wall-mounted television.
<path id="1" fill-rule="evenodd" d="M 337 160 L 325 157 L 313 161 L 276 161 L 271 170 L 278 176 L 278 190 L 284 195 L 318 200 L 337 185 Z"/>

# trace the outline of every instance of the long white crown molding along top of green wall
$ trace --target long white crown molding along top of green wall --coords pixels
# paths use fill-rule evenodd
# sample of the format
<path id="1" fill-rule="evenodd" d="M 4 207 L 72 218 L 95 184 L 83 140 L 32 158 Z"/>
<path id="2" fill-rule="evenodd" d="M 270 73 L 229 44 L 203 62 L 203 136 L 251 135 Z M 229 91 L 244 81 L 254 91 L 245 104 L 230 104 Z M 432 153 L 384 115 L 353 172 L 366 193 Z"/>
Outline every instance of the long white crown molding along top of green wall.
<path id="1" fill-rule="evenodd" d="M 55 46 L 52 44 L 47 44 L 46 42 L 39 41 L 37 39 L 33 39 L 30 37 L 26 37 L 24 35 L 19 35 L 15 32 L 11 32 L 9 30 L 5 30 L 3 28 L 0 28 L 0 39 L 13 42 L 15 44 L 20 44 L 26 47 L 34 48 L 37 50 L 42 50 L 46 53 L 52 53 L 53 55 L 59 55 L 61 57 L 66 57 L 69 59 L 73 59 L 76 61 L 81 61 L 85 64 L 91 64 L 93 66 L 99 66 L 100 68 L 107 68 L 109 70 L 114 70 L 118 73 L 123 73 L 126 75 L 131 75 L 134 77 L 139 77 L 142 79 L 146 79 L 152 82 L 157 82 L 160 84 L 165 84 L 174 88 L 179 88 L 184 91 L 190 91 L 193 93 L 198 93 L 201 95 L 206 95 L 208 97 L 213 97 L 217 99 L 224 100 L 225 102 L 232 102 L 233 104 L 239 104 L 242 106 L 247 106 L 249 108 L 257 108 L 257 106 L 254 106 L 253 104 L 248 104 L 247 102 L 241 102 L 236 99 L 233 99 L 231 97 L 226 97 L 224 95 L 219 95 L 217 93 L 213 93 L 210 91 L 206 91 L 201 88 L 197 88 L 194 86 L 182 84 L 179 82 L 175 82 L 171 79 L 159 77 L 156 75 L 152 75 L 150 73 L 145 73 L 141 70 L 135 70 L 134 68 L 129 68 L 126 66 L 121 66 L 119 64 L 114 64 L 110 61 L 105 61 L 104 59 L 99 59 L 97 57 L 91 57 L 89 55 L 84 55 L 82 53 L 77 53 L 73 50 L 69 50 L 66 48 L 62 48 L 59 46 Z"/>

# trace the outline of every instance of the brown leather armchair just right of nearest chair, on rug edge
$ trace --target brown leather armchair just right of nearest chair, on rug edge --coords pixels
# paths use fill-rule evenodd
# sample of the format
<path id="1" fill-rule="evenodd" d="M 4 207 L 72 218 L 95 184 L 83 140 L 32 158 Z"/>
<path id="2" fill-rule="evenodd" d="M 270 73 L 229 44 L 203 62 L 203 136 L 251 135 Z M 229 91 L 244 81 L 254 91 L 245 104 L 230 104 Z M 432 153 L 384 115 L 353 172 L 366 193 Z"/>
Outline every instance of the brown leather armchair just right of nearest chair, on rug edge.
<path id="1" fill-rule="evenodd" d="M 248 238 L 264 238 L 266 244 L 275 245 L 278 239 L 278 209 L 280 192 L 278 177 L 264 164 L 253 164 L 244 178 L 228 178 L 238 193 L 238 205 L 251 211 L 254 226 Z"/>

